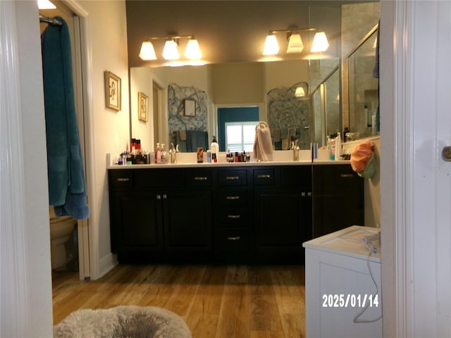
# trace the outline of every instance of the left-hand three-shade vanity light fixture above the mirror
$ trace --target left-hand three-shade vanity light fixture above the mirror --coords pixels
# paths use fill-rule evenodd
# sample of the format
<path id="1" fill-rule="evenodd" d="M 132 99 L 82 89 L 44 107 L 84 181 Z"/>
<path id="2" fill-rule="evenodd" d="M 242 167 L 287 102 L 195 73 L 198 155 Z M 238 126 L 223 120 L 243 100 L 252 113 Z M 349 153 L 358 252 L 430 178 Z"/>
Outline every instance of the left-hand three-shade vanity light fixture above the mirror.
<path id="1" fill-rule="evenodd" d="M 200 52 L 199 43 L 194 35 L 171 35 L 167 37 L 149 37 L 146 41 L 142 42 L 140 58 L 145 61 L 156 60 L 156 54 L 152 41 L 165 39 L 163 49 L 163 58 L 166 60 L 178 60 L 180 55 L 178 53 L 178 45 L 180 39 L 189 39 L 185 51 L 185 56 L 189 60 L 199 60 L 202 58 Z"/>

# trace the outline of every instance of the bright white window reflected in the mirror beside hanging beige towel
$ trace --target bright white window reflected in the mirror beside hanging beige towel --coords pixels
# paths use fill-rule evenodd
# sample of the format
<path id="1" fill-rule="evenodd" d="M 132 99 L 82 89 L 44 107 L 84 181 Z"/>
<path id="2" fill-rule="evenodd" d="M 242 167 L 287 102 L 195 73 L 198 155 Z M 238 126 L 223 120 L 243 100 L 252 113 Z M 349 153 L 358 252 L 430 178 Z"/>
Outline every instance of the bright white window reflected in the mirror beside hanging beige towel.
<path id="1" fill-rule="evenodd" d="M 252 151 L 255 139 L 255 125 L 259 121 L 227 122 L 226 150 Z"/>

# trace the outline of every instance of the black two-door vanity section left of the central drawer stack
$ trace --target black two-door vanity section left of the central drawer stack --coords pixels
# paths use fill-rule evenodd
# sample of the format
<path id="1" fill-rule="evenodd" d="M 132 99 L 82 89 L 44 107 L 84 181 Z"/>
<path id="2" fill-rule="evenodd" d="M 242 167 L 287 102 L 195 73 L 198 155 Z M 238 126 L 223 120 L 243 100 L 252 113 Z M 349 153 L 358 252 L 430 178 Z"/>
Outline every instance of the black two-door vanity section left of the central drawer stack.
<path id="1" fill-rule="evenodd" d="M 208 255 L 211 176 L 198 170 L 109 170 L 111 250 L 120 262 Z"/>

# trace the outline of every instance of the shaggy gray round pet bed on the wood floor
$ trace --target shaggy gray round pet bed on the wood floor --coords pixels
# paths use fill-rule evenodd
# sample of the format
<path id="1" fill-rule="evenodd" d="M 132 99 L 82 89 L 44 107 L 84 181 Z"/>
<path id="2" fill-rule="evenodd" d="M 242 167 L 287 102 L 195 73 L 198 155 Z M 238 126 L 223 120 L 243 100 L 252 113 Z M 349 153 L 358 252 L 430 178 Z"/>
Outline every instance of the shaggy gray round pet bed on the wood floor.
<path id="1" fill-rule="evenodd" d="M 116 306 L 70 313 L 54 338 L 192 338 L 185 321 L 156 306 Z"/>

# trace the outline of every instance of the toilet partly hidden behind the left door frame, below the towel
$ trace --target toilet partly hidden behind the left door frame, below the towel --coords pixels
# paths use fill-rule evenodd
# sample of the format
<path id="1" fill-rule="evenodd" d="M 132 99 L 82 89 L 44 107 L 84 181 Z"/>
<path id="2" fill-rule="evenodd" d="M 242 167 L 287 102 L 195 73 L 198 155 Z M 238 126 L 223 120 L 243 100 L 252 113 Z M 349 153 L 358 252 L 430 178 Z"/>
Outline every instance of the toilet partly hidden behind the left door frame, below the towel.
<path id="1" fill-rule="evenodd" d="M 61 268 L 70 261 L 65 244 L 73 234 L 78 221 L 70 216 L 56 216 L 53 206 L 49 207 L 49 216 L 51 268 L 53 270 Z"/>

